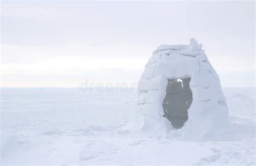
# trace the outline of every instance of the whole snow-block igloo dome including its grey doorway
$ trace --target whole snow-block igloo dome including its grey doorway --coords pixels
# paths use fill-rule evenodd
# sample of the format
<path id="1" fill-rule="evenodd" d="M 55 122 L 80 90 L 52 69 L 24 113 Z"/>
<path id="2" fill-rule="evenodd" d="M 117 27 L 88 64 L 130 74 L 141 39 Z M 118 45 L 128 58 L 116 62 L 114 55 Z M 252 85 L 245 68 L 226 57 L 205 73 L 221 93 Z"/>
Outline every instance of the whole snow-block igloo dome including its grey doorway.
<path id="1" fill-rule="evenodd" d="M 190 45 L 160 45 L 140 77 L 129 131 L 179 131 L 205 136 L 227 123 L 220 79 L 195 39 Z"/>

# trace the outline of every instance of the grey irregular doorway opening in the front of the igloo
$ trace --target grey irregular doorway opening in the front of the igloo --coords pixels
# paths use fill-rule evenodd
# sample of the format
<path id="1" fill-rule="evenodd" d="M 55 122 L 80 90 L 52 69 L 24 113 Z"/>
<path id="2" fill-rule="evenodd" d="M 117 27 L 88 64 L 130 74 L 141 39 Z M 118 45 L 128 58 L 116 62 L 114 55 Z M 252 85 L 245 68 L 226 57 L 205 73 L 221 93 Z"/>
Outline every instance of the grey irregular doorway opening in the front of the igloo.
<path id="1" fill-rule="evenodd" d="M 164 116 L 171 121 L 174 128 L 183 127 L 187 120 L 187 110 L 192 103 L 190 90 L 191 78 L 169 79 L 163 102 Z"/>

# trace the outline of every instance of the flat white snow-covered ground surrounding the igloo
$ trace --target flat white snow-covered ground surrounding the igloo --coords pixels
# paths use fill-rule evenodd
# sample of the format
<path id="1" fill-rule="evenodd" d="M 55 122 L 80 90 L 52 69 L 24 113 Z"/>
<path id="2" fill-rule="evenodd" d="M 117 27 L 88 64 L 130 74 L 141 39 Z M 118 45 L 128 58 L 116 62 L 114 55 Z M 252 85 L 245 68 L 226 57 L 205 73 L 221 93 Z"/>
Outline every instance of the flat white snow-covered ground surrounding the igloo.
<path id="1" fill-rule="evenodd" d="M 131 117 L 132 89 L 1 89 L 1 162 L 255 165 L 255 89 L 223 90 L 227 131 L 194 141 L 117 134 Z"/>

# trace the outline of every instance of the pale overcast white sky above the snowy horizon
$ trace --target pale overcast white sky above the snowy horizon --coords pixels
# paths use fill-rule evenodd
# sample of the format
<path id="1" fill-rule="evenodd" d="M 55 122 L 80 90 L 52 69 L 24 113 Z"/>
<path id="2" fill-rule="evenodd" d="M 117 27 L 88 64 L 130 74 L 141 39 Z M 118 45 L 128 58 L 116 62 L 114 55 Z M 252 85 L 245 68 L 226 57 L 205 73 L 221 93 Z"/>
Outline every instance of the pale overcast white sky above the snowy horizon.
<path id="1" fill-rule="evenodd" d="M 255 86 L 255 2 L 1 2 L 1 86 L 137 82 L 196 38 L 225 87 Z"/>

